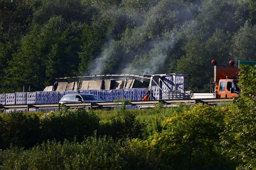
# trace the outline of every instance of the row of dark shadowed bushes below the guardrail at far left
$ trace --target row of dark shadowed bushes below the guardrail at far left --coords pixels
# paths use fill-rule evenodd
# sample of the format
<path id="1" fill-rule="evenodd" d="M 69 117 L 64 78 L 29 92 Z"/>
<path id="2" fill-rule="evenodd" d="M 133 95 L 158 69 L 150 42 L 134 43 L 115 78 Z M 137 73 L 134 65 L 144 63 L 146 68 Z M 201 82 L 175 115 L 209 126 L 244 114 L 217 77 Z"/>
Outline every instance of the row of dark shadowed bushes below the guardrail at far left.
<path id="1" fill-rule="evenodd" d="M 63 110 L 40 114 L 12 112 L 0 117 L 0 149 L 13 144 L 18 147 L 33 147 L 42 141 L 53 140 L 81 142 L 84 136 L 93 135 L 99 128 L 99 117 L 86 110 Z"/>

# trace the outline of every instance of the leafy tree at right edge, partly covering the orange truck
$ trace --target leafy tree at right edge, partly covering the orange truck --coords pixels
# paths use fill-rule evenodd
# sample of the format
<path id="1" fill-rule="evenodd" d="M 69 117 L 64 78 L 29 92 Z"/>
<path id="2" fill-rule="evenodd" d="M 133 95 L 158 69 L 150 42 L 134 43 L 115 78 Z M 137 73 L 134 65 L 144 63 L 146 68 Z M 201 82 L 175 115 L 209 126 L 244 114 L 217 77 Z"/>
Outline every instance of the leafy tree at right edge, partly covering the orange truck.
<path id="1" fill-rule="evenodd" d="M 228 107 L 221 143 L 233 158 L 244 162 L 238 169 L 256 168 L 256 66 L 241 66 L 241 94 Z"/>

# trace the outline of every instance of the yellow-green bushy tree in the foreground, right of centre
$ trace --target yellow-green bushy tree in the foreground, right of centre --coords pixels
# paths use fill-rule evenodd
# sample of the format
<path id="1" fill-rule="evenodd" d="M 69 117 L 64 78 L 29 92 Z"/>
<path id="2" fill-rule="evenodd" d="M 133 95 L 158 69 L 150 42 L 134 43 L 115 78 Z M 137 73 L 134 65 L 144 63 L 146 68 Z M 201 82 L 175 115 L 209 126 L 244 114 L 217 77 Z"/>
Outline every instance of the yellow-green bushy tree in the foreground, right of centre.
<path id="1" fill-rule="evenodd" d="M 197 104 L 192 110 L 175 113 L 163 122 L 150 145 L 172 169 L 218 169 L 227 162 L 221 155 L 220 136 L 223 111 Z"/>

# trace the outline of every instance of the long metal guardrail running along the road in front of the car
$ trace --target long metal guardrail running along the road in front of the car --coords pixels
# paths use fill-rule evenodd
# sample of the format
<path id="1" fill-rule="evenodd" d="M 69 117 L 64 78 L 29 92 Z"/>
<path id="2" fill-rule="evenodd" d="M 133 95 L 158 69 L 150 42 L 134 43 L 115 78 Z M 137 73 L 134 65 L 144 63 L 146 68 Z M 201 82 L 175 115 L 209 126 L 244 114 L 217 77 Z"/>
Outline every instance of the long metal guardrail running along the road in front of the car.
<path id="1" fill-rule="evenodd" d="M 177 105 L 195 105 L 197 103 L 205 103 L 205 104 L 219 104 L 221 102 L 231 102 L 234 99 L 175 99 L 175 100 L 136 100 L 136 101 L 125 101 L 125 102 L 85 102 L 85 103 L 55 103 L 55 104 L 16 104 L 16 105 L 2 105 L 0 104 L 0 110 L 5 109 L 26 109 L 29 111 L 30 109 L 58 109 L 60 110 L 61 105 L 66 106 L 68 108 L 76 108 L 76 107 L 86 107 L 88 109 L 93 108 L 106 108 L 106 107 L 115 107 L 115 106 L 139 106 L 141 108 L 145 107 L 154 107 L 159 102 L 162 102 L 164 105 L 171 107 Z"/>

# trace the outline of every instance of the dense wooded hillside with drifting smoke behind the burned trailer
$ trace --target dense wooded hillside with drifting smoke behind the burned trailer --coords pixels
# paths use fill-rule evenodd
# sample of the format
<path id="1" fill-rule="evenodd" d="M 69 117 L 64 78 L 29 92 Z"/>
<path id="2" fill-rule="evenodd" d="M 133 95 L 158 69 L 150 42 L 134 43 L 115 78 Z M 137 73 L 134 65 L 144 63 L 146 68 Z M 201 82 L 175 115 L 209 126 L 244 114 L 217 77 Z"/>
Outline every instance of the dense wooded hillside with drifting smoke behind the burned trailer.
<path id="1" fill-rule="evenodd" d="M 211 60 L 256 60 L 254 0 L 1 0 L 0 93 L 54 78 L 185 73 L 208 90 Z"/>

